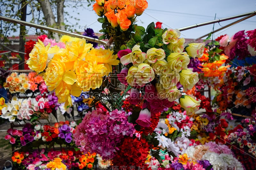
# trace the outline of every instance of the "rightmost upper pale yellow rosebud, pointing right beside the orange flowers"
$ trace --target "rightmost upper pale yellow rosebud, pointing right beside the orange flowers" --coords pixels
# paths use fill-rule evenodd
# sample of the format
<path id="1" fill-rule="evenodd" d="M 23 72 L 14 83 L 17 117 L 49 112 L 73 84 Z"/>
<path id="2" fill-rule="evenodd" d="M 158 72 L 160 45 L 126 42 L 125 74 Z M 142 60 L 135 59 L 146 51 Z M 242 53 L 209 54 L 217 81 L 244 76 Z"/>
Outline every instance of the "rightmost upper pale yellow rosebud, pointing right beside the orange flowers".
<path id="1" fill-rule="evenodd" d="M 204 43 L 191 43 L 185 47 L 185 51 L 191 57 L 201 58 L 204 54 Z"/>

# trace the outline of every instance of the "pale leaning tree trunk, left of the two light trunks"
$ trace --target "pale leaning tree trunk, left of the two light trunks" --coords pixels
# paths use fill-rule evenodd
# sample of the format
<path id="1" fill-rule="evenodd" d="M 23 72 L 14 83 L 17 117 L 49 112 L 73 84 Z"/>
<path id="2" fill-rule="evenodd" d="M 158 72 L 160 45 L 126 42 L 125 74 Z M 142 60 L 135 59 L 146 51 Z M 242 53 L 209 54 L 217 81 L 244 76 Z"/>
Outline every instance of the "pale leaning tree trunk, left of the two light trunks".
<path id="1" fill-rule="evenodd" d="M 52 7 L 51 7 L 49 0 L 38 0 L 38 2 L 40 3 L 42 11 L 44 13 L 46 25 L 56 28 L 57 23 L 55 21 L 55 17 L 52 12 Z M 52 33 L 52 36 L 55 38 L 56 41 L 60 40 L 58 33 Z"/>

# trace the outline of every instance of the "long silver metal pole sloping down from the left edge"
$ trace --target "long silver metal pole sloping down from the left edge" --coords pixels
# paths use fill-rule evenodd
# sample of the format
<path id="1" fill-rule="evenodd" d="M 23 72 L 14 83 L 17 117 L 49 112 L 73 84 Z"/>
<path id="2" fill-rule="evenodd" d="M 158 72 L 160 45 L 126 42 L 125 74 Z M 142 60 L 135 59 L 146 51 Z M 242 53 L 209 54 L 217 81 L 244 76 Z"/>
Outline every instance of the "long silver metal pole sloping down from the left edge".
<path id="1" fill-rule="evenodd" d="M 63 31 L 63 30 L 59 30 L 59 29 L 56 29 L 56 28 L 50 28 L 50 27 L 47 27 L 47 26 L 41 26 L 41 25 L 38 25 L 38 24 L 26 22 L 26 21 L 20 21 L 18 19 L 13 19 L 13 18 L 0 16 L 0 20 L 9 21 L 9 22 L 12 22 L 12 23 L 17 23 L 17 24 L 24 25 L 24 26 L 35 27 L 35 28 L 51 31 L 51 32 L 54 32 L 54 33 L 69 35 L 69 36 L 72 36 L 72 37 L 84 38 L 85 40 L 88 40 L 88 41 L 97 42 L 97 43 L 103 44 L 105 46 L 107 45 L 107 42 L 102 41 L 102 40 L 98 40 L 97 38 L 87 37 L 87 36 L 80 35 L 80 34 L 77 34 L 77 33 L 69 33 L 68 31 Z"/>

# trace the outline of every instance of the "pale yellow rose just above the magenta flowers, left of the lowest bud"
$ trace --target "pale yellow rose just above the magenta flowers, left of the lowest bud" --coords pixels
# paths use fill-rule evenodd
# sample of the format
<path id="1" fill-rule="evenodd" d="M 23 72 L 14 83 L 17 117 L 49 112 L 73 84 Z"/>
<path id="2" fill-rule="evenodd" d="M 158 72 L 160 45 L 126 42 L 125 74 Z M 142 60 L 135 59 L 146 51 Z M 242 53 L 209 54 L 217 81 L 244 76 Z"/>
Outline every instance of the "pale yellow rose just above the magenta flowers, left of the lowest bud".
<path id="1" fill-rule="evenodd" d="M 179 99 L 181 96 L 181 92 L 177 89 L 176 86 L 173 86 L 169 89 L 164 89 L 161 83 L 156 83 L 156 91 L 159 99 L 168 99 L 171 102 Z"/>

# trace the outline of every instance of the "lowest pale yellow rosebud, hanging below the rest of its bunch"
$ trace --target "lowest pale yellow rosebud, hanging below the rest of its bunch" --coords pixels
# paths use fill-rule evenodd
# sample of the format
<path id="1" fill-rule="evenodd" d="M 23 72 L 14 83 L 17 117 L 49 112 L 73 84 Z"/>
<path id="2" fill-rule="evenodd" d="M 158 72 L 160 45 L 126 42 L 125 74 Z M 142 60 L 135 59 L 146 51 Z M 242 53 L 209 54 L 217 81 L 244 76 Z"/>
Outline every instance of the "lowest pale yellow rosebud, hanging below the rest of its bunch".
<path id="1" fill-rule="evenodd" d="M 188 95 L 182 95 L 179 101 L 180 101 L 180 106 L 186 110 L 187 115 L 192 115 L 197 110 L 199 110 L 199 106 L 201 102 L 201 100 L 197 101 Z"/>

